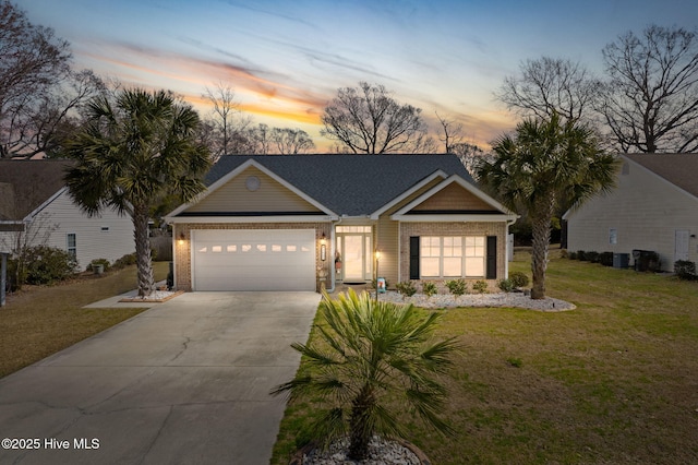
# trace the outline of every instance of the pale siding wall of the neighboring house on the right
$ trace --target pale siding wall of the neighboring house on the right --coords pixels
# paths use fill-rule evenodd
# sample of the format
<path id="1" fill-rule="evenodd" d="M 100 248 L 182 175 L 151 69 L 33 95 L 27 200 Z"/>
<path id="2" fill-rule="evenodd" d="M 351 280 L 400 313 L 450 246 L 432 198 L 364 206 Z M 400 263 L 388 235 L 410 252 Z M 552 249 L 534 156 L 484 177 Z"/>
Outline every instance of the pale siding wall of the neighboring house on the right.
<path id="1" fill-rule="evenodd" d="M 567 215 L 567 249 L 631 253 L 634 249 L 660 254 L 662 270 L 674 265 L 675 231 L 698 234 L 698 199 L 635 163 L 618 175 L 617 188 L 597 196 Z M 617 243 L 610 243 L 616 229 Z M 689 260 L 698 261 L 698 241 L 689 239 Z M 630 255 L 631 258 L 631 255 Z"/>

